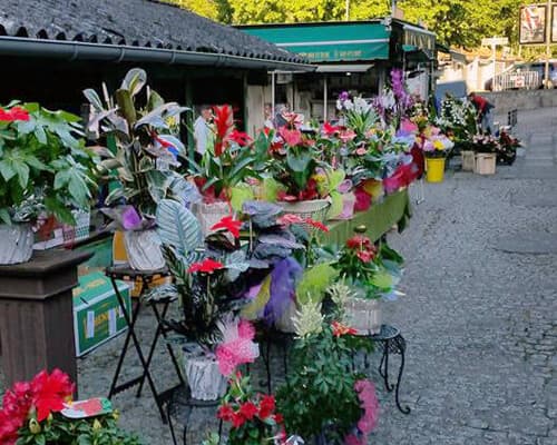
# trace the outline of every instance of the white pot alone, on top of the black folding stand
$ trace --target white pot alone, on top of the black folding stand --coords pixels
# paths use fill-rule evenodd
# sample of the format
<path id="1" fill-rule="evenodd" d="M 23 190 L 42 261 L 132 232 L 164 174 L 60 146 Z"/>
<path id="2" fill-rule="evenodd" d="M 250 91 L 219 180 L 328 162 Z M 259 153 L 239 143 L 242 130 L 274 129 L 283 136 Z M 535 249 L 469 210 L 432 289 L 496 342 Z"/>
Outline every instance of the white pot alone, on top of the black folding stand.
<path id="1" fill-rule="evenodd" d="M 124 245 L 133 269 L 156 270 L 166 264 L 160 250 L 160 238 L 155 229 L 127 230 L 124 233 Z"/>

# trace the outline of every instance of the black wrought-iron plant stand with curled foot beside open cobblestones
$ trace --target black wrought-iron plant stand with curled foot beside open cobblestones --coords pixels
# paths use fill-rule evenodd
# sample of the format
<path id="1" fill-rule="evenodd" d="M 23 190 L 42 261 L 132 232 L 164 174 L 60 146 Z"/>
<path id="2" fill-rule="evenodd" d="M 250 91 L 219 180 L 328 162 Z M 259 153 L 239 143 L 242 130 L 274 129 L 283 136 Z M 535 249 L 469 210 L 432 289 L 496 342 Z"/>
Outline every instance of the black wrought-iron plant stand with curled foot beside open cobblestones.
<path id="1" fill-rule="evenodd" d="M 402 407 L 399 398 L 400 382 L 402 379 L 402 372 L 404 370 L 404 353 L 407 350 L 407 343 L 400 330 L 390 325 L 382 325 L 379 334 L 368 334 L 367 338 L 374 343 L 379 343 L 383 349 L 381 362 L 379 364 L 379 374 L 383 377 L 385 389 L 391 393 L 394 389 L 394 400 L 397 407 L 402 414 L 410 414 L 410 407 Z M 397 384 L 393 386 L 389 383 L 389 355 L 400 355 L 400 367 L 397 376 Z M 365 357 L 365 365 L 368 366 L 368 357 Z"/>

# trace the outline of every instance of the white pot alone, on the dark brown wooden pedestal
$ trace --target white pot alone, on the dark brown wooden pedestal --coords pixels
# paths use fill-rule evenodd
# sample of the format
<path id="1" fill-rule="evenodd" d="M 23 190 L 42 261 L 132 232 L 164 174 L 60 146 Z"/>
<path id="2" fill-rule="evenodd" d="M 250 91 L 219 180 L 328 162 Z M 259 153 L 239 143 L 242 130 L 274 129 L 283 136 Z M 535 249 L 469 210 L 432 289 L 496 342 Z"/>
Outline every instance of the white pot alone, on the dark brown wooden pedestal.
<path id="1" fill-rule="evenodd" d="M 33 253 L 30 224 L 0 224 L 0 265 L 27 263 Z"/>

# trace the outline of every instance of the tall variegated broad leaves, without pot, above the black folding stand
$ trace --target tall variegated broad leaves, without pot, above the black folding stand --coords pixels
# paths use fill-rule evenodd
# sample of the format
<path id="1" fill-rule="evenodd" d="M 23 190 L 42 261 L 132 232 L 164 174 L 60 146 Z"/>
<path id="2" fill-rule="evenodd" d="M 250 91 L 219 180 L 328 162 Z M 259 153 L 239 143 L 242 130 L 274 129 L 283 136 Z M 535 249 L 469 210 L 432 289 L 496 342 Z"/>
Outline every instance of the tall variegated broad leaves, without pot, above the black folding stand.
<path id="1" fill-rule="evenodd" d="M 149 88 L 144 93 L 146 86 L 146 72 L 134 68 L 113 97 L 105 97 L 102 101 L 92 89 L 85 90 L 84 95 L 90 103 L 87 129 L 97 139 L 106 138 L 115 145 L 114 152 L 101 150 L 106 159 L 99 169 L 107 179 L 116 175 L 121 187 L 109 194 L 106 205 L 125 201 L 141 217 L 154 218 L 162 199 L 188 199 L 190 190 L 174 170 L 179 165 L 178 156 L 185 151 L 174 135 L 179 127 L 179 116 L 187 108 L 165 102 Z"/>

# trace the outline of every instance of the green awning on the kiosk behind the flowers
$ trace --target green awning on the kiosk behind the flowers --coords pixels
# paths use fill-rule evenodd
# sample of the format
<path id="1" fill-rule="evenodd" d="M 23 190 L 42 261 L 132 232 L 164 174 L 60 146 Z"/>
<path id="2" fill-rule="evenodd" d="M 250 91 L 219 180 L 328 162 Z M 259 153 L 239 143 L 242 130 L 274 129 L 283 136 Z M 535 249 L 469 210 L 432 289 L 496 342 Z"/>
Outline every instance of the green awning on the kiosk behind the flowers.
<path id="1" fill-rule="evenodd" d="M 389 59 L 391 32 L 380 21 L 238 28 L 312 62 Z"/>

